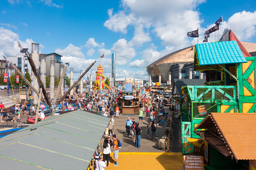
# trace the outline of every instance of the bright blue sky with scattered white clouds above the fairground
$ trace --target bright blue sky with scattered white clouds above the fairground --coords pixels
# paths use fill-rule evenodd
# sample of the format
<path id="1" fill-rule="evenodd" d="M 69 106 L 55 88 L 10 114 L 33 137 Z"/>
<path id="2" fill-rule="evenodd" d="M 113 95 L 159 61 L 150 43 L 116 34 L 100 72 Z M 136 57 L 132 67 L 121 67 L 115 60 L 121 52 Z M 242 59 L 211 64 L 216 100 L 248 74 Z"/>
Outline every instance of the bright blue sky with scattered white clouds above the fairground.
<path id="1" fill-rule="evenodd" d="M 109 77 L 115 53 L 117 78 L 148 79 L 146 66 L 203 43 L 204 32 L 221 16 L 219 31 L 208 42 L 217 41 L 228 28 L 240 41 L 256 43 L 255 10 L 252 0 L 1 0 L 0 52 L 7 57 L 20 54 L 17 40 L 30 52 L 31 43 L 39 43 L 40 53 L 55 52 L 70 62 L 74 80 L 103 53 L 90 71 L 95 78 L 101 64 Z M 197 28 L 199 39 L 187 37 Z"/>

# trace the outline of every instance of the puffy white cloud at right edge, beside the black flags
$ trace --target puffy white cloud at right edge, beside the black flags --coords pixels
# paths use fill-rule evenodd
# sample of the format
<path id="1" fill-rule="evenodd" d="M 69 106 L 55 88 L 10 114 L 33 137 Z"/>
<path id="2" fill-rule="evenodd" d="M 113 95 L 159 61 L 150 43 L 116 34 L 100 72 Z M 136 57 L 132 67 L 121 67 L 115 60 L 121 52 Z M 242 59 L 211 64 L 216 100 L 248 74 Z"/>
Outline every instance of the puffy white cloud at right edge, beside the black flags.
<path id="1" fill-rule="evenodd" d="M 231 29 L 240 41 L 250 40 L 256 35 L 256 11 L 235 13 L 222 24 Z"/>

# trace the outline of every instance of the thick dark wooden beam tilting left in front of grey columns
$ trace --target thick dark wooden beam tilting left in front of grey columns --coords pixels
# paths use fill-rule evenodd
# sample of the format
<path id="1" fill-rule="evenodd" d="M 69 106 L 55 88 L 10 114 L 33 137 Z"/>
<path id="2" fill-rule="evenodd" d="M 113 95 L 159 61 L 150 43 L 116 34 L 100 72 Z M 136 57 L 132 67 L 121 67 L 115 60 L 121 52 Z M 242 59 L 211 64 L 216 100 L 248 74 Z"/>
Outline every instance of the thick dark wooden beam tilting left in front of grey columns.
<path id="1" fill-rule="evenodd" d="M 44 95 L 44 99 L 46 101 L 46 104 L 51 107 L 51 102 L 50 102 L 50 99 L 49 99 L 49 96 L 48 96 L 48 93 L 46 92 L 46 89 L 45 89 L 45 86 L 44 86 L 44 83 L 42 82 L 41 78 L 40 78 L 40 74 L 38 73 L 37 74 L 37 69 L 36 69 L 36 65 L 33 61 L 33 59 L 31 58 L 30 54 L 28 52 L 25 53 L 27 58 L 28 58 L 28 61 L 29 61 L 29 64 L 32 68 L 32 71 L 35 75 L 37 75 L 37 79 L 38 79 L 38 82 L 39 82 L 39 86 L 40 88 L 42 88 L 42 94 Z"/>

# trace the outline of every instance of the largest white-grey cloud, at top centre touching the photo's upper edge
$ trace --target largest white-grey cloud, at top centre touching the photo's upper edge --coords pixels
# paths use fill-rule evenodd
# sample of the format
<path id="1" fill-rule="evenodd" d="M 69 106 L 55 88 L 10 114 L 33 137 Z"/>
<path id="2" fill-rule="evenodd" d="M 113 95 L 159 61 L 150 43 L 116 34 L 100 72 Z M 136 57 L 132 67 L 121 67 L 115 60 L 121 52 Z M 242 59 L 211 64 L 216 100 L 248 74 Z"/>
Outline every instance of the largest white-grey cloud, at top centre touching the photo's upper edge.
<path id="1" fill-rule="evenodd" d="M 204 2 L 205 0 L 122 0 L 122 10 L 113 14 L 113 9 L 109 9 L 109 20 L 105 22 L 105 26 L 121 33 L 126 33 L 129 25 L 133 26 L 135 32 L 131 43 L 134 45 L 150 42 L 150 29 L 160 38 L 162 45 L 180 49 L 191 44 L 192 40 L 187 38 L 187 32 L 195 30 L 203 22 L 196 8 Z"/>

